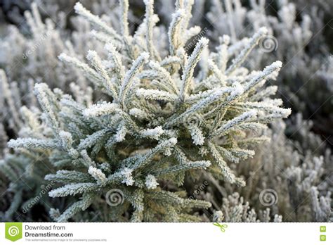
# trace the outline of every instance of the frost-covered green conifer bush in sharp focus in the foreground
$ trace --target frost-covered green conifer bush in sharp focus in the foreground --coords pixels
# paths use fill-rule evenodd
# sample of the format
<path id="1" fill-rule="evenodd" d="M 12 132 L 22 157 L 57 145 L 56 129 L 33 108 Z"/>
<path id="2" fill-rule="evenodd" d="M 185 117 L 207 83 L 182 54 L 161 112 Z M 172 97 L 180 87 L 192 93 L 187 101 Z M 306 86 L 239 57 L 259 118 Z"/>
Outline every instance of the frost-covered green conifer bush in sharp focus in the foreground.
<path id="1" fill-rule="evenodd" d="M 39 166 L 36 170 L 39 177 L 60 184 L 48 195 L 74 201 L 61 213 L 50 210 L 57 221 L 83 220 L 86 215 L 107 221 L 198 220 L 194 211 L 209 208 L 211 203 L 188 199 L 183 191 L 165 190 L 165 183 L 181 188 L 186 176 L 210 172 L 244 186 L 228 162 L 253 156 L 244 140 L 259 141 L 268 122 L 290 113 L 263 89 L 266 80 L 278 75 L 282 63 L 276 61 L 251 73 L 242 67 L 266 35 L 266 28 L 254 34 L 235 57 L 209 51 L 205 38 L 188 56 L 185 44 L 193 34 L 188 29 L 190 1 L 177 6 L 168 32 L 169 51 L 160 51 L 154 39 L 158 18 L 152 1 L 145 1 L 145 20 L 133 36 L 125 16 L 128 3 L 121 2 L 123 37 L 81 4 L 75 6 L 107 37 L 107 59 L 96 51 L 86 56 L 91 65 L 67 54 L 59 56 L 60 61 L 81 70 L 105 99 L 91 104 L 94 100 L 89 96 L 82 100 L 36 84 L 34 92 L 42 111 L 34 113 L 38 119 L 33 125 L 25 124 L 29 136 L 8 142 L 16 149 L 13 161 L 24 158 L 22 168 L 36 165 L 36 159 L 49 166 L 44 172 Z M 228 42 L 218 50 L 228 52 Z M 274 94 L 272 90 L 269 94 Z M 77 94 L 82 93 L 77 88 Z M 251 132 L 259 135 L 253 137 Z M 11 161 L 5 159 L 1 166 L 15 180 Z M 112 190 L 120 194 L 117 206 L 110 205 Z M 20 192 L 12 209 L 19 199 Z"/>

